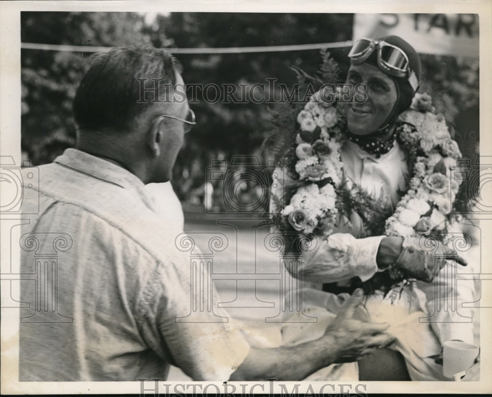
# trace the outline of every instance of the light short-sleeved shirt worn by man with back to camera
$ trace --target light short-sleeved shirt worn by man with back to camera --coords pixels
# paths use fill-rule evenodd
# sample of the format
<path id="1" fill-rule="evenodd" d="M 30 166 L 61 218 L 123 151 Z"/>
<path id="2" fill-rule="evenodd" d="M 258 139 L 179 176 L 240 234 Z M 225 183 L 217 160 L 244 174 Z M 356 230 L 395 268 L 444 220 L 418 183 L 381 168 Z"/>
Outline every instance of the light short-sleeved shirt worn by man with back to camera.
<path id="1" fill-rule="evenodd" d="M 21 282 L 21 381 L 164 379 L 169 364 L 225 381 L 244 361 L 242 333 L 210 322 L 227 312 L 189 317 L 189 253 L 135 175 L 67 149 L 24 193 L 21 271 L 33 280 Z"/>

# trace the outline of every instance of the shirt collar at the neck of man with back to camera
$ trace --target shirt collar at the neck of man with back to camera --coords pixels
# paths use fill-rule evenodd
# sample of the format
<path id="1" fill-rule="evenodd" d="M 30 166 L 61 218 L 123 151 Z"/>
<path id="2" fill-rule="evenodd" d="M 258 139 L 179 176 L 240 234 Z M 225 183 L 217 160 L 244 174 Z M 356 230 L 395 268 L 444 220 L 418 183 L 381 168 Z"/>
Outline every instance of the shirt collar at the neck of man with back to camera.
<path id="1" fill-rule="evenodd" d="M 149 208 L 154 207 L 142 180 L 123 167 L 73 148 L 66 149 L 54 162 L 123 189 L 133 189 Z"/>

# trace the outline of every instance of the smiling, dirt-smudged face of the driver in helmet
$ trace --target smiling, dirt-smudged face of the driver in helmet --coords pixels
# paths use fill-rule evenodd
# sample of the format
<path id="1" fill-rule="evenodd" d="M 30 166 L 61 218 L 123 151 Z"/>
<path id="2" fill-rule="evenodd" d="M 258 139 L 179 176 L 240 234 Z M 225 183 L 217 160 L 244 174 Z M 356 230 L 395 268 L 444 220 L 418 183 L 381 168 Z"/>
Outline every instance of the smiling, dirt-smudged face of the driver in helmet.
<path id="1" fill-rule="evenodd" d="M 365 84 L 368 95 L 364 103 L 345 106 L 348 130 L 352 134 L 368 135 L 382 127 L 398 99 L 395 82 L 378 67 L 362 63 L 350 66 L 347 84 Z"/>

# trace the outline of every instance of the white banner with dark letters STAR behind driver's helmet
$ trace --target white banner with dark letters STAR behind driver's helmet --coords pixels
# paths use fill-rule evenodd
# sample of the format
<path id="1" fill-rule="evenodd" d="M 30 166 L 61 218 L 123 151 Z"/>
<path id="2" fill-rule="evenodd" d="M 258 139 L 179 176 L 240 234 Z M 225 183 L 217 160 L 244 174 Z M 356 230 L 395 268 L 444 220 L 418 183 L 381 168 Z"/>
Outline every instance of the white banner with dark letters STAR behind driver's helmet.
<path id="1" fill-rule="evenodd" d="M 353 39 L 396 34 L 423 54 L 478 57 L 477 14 L 355 14 Z"/>

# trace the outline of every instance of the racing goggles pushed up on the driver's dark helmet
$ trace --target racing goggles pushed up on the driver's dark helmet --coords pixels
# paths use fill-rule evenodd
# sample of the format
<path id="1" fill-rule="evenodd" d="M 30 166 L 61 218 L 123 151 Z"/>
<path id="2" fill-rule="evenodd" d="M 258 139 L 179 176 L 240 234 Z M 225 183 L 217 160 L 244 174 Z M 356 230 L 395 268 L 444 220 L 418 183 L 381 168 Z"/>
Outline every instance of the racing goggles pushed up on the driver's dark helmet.
<path id="1" fill-rule="evenodd" d="M 408 83 L 416 91 L 419 86 L 417 75 L 411 70 L 408 57 L 401 48 L 386 41 L 360 39 L 354 43 L 348 57 L 352 64 L 360 65 L 369 58 L 376 47 L 378 48 L 377 64 L 379 67 L 390 76 L 408 76 Z"/>

